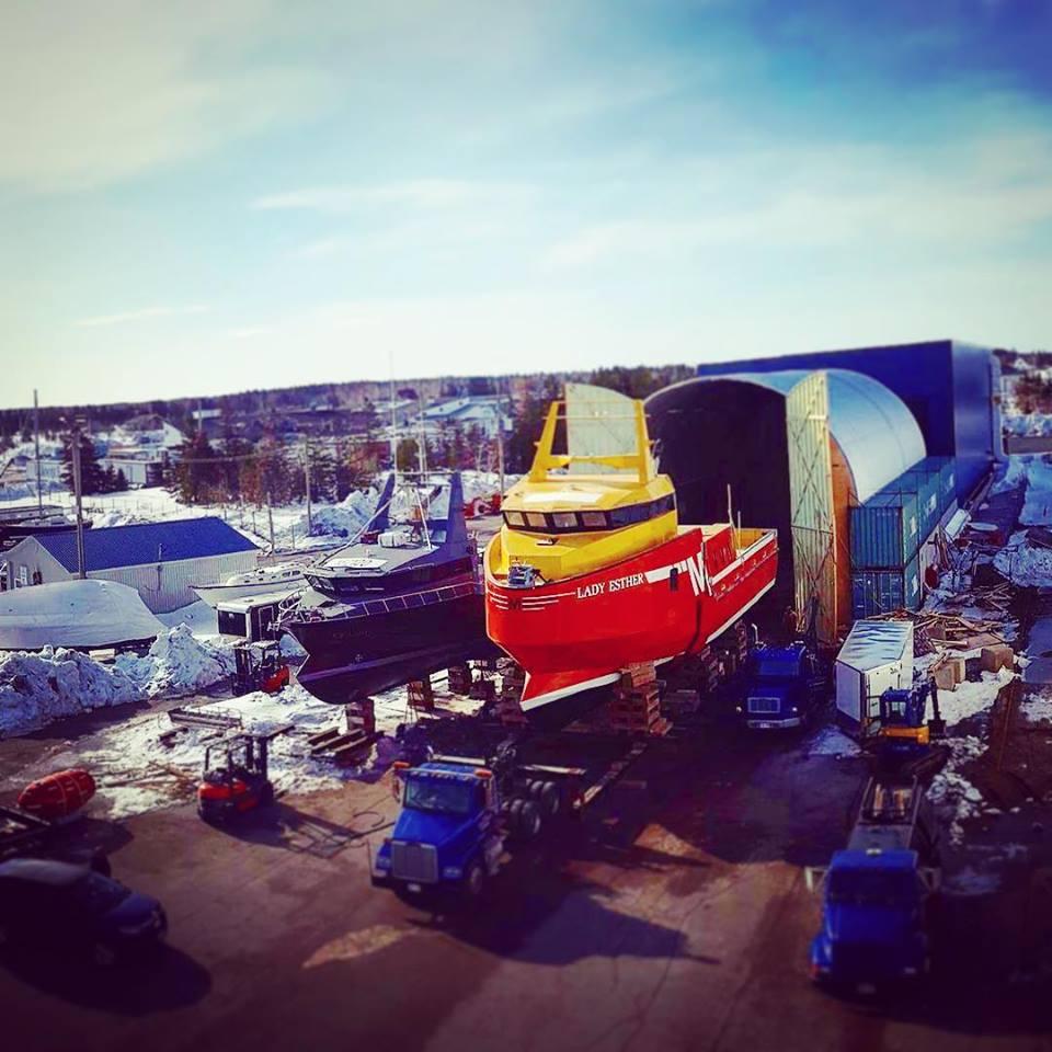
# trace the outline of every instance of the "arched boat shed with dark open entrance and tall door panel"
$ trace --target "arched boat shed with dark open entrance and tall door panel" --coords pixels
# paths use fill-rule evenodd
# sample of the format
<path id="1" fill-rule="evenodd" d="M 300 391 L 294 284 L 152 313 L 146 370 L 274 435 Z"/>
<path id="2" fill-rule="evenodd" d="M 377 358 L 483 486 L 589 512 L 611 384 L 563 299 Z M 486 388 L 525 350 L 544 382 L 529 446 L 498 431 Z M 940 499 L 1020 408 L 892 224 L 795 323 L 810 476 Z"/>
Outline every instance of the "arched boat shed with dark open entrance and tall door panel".
<path id="1" fill-rule="evenodd" d="M 651 396 L 651 433 L 684 522 L 778 529 L 773 602 L 799 617 L 819 601 L 820 638 L 851 618 L 850 510 L 925 456 L 903 401 L 846 369 L 698 378 Z"/>

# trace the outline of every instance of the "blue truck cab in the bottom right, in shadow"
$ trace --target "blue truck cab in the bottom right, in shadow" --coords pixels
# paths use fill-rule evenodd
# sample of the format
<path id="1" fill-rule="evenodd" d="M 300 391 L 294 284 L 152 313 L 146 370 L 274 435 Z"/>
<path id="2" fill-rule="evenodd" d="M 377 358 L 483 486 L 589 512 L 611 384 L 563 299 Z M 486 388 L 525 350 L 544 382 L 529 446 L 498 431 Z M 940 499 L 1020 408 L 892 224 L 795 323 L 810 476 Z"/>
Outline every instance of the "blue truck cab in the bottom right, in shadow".
<path id="1" fill-rule="evenodd" d="M 930 887 L 912 850 L 837 851 L 825 876 L 811 975 L 854 985 L 916 980 L 928 971 Z"/>

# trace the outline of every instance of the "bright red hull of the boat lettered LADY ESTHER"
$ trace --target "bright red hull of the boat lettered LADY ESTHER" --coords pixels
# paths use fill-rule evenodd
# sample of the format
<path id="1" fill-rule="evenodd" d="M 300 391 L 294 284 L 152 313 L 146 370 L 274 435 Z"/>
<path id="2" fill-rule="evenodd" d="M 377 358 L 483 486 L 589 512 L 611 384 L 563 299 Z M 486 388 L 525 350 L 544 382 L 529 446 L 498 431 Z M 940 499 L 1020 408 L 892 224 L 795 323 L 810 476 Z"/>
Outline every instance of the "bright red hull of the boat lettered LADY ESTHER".
<path id="1" fill-rule="evenodd" d="M 488 578 L 490 639 L 526 671 L 528 710 L 613 683 L 619 670 L 701 650 L 775 583 L 774 531 L 735 558 L 730 530 L 674 539 L 581 576 L 530 588 Z"/>

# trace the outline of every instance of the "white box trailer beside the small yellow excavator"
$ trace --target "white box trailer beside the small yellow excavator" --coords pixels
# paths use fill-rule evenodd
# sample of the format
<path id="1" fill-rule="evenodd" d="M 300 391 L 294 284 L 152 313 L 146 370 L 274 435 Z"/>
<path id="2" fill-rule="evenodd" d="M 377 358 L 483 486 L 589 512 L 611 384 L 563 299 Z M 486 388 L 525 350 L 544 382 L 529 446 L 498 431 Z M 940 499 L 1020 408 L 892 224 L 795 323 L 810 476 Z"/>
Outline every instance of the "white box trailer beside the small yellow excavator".
<path id="1" fill-rule="evenodd" d="M 913 621 L 856 621 L 836 655 L 834 682 L 837 718 L 865 733 L 880 717 L 880 696 L 913 685 Z"/>

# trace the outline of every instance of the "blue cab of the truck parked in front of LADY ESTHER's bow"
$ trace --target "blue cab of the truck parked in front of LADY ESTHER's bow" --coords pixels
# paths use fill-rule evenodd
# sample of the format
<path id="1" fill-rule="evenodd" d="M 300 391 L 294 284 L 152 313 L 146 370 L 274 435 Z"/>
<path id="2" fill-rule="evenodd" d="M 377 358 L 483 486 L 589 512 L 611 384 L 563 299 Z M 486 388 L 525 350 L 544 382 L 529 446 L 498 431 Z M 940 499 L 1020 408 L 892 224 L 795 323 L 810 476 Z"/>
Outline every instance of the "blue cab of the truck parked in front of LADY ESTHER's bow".
<path id="1" fill-rule="evenodd" d="M 407 895 L 455 888 L 477 896 L 504 844 L 496 780 L 483 767 L 396 765 L 401 812 L 373 861 L 373 883 Z"/>

